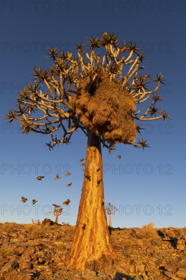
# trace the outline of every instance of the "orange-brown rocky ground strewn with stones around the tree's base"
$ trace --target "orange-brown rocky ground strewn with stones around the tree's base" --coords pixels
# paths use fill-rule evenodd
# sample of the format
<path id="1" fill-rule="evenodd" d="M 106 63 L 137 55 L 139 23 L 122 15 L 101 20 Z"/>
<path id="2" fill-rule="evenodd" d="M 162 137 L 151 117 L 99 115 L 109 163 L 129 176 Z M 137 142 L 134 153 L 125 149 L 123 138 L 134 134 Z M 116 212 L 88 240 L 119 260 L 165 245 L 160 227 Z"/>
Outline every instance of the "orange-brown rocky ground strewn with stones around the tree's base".
<path id="1" fill-rule="evenodd" d="M 186 278 L 186 228 L 112 229 L 119 256 L 68 269 L 66 257 L 75 226 L 0 223 L 0 280 L 175 279 Z"/>

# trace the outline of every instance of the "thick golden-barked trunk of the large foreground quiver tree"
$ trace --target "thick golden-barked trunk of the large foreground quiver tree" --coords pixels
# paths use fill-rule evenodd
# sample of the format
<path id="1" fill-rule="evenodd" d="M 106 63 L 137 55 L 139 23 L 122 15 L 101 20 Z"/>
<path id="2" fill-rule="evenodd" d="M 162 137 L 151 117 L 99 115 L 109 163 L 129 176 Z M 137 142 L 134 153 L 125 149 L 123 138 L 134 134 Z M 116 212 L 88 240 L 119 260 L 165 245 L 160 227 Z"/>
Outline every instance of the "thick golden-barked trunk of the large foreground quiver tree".
<path id="1" fill-rule="evenodd" d="M 98 260 L 103 255 L 117 258 L 112 248 L 104 207 L 100 137 L 88 132 L 84 182 L 68 265 L 84 270 L 86 263 Z"/>

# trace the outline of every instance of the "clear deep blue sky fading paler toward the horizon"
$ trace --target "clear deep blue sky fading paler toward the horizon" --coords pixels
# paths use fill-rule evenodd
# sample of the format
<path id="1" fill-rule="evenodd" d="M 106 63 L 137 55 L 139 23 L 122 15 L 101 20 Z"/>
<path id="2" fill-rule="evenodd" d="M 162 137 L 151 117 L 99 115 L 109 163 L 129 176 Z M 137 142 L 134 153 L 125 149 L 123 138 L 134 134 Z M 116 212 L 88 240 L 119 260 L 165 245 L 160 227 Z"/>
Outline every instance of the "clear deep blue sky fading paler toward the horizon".
<path id="1" fill-rule="evenodd" d="M 161 72 L 168 78 L 161 89 L 166 101 L 160 106 L 172 121 L 144 122 L 149 149 L 119 144 L 110 156 L 103 149 L 105 202 L 119 209 L 112 217 L 113 227 L 142 227 L 149 222 L 155 227 L 185 226 L 185 9 L 180 0 L 1 2 L 0 222 L 54 219 L 46 214 L 51 204 L 69 198 L 70 208 L 59 222 L 75 225 L 84 134 L 75 132 L 70 146 L 50 152 L 45 145 L 50 135 L 22 134 L 18 122 L 9 124 L 3 117 L 15 108 L 17 89 L 32 81 L 29 73 L 34 66 L 50 66 L 45 59 L 48 46 L 77 55 L 74 44 L 85 43 L 85 37 L 114 32 L 120 41 L 139 43 L 148 58 L 144 74 Z M 67 171 L 70 177 L 65 176 Z M 54 180 L 56 173 L 61 179 Z M 38 175 L 45 176 L 43 181 L 36 179 Z M 66 187 L 70 182 L 73 185 Z M 21 196 L 28 202 L 22 204 Z M 33 199 L 38 207 L 32 206 Z"/>

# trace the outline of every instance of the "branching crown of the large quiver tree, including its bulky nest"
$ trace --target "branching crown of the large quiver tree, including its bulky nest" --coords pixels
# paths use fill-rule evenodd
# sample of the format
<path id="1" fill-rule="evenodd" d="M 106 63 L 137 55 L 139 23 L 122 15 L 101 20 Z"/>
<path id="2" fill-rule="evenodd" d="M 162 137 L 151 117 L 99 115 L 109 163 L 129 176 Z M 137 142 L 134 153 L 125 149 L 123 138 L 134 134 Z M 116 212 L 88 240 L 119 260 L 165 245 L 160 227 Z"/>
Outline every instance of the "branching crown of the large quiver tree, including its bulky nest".
<path id="1" fill-rule="evenodd" d="M 134 121 L 169 121 L 167 112 L 156 107 L 163 101 L 155 94 L 165 80 L 163 75 L 151 78 L 150 74 L 139 74 L 145 56 L 132 42 L 120 43 L 118 36 L 108 33 L 86 39 L 85 44 L 76 44 L 78 57 L 49 49 L 47 58 L 52 59 L 52 65 L 48 70 L 34 67 L 33 83 L 18 92 L 17 109 L 10 109 L 6 118 L 9 122 L 18 120 L 22 133 L 51 134 L 46 143 L 49 149 L 59 143 L 68 145 L 78 128 L 86 136 L 87 130 L 101 136 L 109 152 L 116 143 L 148 147 L 143 138 L 135 142 L 142 125 Z M 102 56 L 98 53 L 101 49 Z M 150 83 L 155 83 L 153 90 Z M 142 108 L 136 109 L 147 100 L 150 102 L 143 113 Z M 55 132 L 59 128 L 63 132 L 58 138 Z"/>

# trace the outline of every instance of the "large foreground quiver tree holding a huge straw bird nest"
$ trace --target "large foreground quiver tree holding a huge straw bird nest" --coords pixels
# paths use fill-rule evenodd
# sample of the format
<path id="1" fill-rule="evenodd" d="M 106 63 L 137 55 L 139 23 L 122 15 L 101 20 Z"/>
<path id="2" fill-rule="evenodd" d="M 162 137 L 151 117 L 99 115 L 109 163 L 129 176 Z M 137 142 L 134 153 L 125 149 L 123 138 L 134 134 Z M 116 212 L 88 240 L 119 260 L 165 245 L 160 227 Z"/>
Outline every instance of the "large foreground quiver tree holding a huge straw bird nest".
<path id="1" fill-rule="evenodd" d="M 168 114 L 156 107 L 163 100 L 155 95 L 163 76 L 152 79 L 150 74 L 139 74 L 145 57 L 136 44 L 119 44 L 117 36 L 104 33 L 76 47 L 77 58 L 49 49 L 53 65 L 48 70 L 34 68 L 34 82 L 19 92 L 17 110 L 10 110 L 7 118 L 18 120 L 23 133 L 50 134 L 49 149 L 59 143 L 68 145 L 77 129 L 88 138 L 77 225 L 68 256 L 69 266 L 82 270 L 102 255 L 117 258 L 104 208 L 101 144 L 109 152 L 117 143 L 144 149 L 146 140 L 135 142 L 137 132 L 141 134 L 135 120 L 168 120 Z M 102 48 L 101 57 L 98 50 Z M 156 86 L 149 90 L 151 83 Z M 136 109 L 142 102 L 147 102 L 144 113 Z M 63 130 L 60 138 L 54 136 L 59 128 Z"/>

